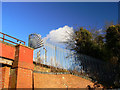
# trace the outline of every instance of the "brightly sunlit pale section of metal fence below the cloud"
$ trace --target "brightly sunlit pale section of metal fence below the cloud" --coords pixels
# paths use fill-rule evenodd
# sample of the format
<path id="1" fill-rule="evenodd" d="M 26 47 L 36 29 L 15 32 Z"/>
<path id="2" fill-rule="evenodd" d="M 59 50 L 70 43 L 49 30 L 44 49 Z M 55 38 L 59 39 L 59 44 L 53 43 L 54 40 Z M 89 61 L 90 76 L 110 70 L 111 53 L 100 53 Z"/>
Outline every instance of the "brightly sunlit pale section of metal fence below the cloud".
<path id="1" fill-rule="evenodd" d="M 69 50 L 44 42 L 43 47 L 34 50 L 34 61 L 68 70 L 74 60 L 74 56 L 68 57 L 69 54 L 72 54 Z"/>

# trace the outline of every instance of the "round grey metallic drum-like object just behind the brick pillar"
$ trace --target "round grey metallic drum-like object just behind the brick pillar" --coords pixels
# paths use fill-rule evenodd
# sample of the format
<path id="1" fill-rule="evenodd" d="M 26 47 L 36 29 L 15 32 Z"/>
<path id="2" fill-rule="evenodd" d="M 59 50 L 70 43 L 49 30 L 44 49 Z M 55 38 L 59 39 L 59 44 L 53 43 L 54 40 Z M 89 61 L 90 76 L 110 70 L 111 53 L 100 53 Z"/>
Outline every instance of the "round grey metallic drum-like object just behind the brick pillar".
<path id="1" fill-rule="evenodd" d="M 34 49 L 40 48 L 43 46 L 43 40 L 40 34 L 30 34 L 28 46 Z"/>

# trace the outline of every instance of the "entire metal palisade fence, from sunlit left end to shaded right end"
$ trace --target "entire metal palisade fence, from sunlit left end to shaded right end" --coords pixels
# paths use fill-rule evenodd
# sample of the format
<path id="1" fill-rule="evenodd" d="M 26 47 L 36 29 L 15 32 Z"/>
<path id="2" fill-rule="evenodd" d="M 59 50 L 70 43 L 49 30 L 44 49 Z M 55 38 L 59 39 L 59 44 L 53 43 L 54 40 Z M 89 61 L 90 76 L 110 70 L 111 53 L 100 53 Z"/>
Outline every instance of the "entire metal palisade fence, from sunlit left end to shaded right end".
<path id="1" fill-rule="evenodd" d="M 54 69 L 64 69 L 70 73 L 87 76 L 94 81 L 109 87 L 119 86 L 120 66 L 96 58 L 74 54 L 69 50 L 44 42 L 34 50 L 34 61 Z"/>

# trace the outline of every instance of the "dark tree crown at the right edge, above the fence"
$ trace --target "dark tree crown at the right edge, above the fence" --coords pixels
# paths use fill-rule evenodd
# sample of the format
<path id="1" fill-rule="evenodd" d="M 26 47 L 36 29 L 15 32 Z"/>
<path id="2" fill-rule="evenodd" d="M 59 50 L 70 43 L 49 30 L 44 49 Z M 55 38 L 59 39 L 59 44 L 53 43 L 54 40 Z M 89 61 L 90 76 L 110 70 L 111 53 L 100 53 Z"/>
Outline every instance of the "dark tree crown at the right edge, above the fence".
<path id="1" fill-rule="evenodd" d="M 106 46 L 111 51 L 112 57 L 120 60 L 120 25 L 112 25 L 106 31 Z"/>

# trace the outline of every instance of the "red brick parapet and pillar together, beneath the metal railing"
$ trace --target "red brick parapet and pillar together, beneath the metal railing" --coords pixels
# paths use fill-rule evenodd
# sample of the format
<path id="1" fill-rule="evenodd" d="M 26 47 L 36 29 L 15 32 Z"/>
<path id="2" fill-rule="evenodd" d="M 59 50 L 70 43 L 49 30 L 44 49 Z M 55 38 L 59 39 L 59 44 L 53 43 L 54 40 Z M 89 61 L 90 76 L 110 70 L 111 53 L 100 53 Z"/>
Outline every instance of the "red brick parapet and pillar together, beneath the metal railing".
<path id="1" fill-rule="evenodd" d="M 16 78 L 10 77 L 10 68 L 1 67 L 1 76 L 0 79 L 2 83 L 2 88 L 32 88 L 32 72 L 33 72 L 33 49 L 24 46 L 24 45 L 10 45 L 0 42 L 0 56 L 13 59 L 12 67 L 15 68 Z M 16 79 L 15 86 L 9 83 L 9 80 Z"/>

